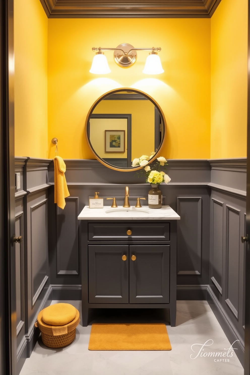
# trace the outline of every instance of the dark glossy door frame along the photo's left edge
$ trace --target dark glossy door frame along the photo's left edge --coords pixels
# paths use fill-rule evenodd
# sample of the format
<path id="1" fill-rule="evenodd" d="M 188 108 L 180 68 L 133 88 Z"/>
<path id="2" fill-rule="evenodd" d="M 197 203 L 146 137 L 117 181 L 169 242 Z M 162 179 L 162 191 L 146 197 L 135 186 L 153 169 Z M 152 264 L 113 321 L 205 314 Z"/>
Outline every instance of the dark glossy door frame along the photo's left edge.
<path id="1" fill-rule="evenodd" d="M 0 1 L 0 373 L 16 371 L 13 0 Z"/>

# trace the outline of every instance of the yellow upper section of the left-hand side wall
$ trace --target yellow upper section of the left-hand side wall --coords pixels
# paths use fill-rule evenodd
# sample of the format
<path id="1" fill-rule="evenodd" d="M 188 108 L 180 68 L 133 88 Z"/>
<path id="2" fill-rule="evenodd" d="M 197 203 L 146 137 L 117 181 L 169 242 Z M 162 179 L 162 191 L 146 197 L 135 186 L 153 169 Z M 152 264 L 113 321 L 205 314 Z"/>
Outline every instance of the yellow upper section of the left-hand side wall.
<path id="1" fill-rule="evenodd" d="M 14 0 L 15 155 L 48 157 L 48 18 L 39 0 Z"/>

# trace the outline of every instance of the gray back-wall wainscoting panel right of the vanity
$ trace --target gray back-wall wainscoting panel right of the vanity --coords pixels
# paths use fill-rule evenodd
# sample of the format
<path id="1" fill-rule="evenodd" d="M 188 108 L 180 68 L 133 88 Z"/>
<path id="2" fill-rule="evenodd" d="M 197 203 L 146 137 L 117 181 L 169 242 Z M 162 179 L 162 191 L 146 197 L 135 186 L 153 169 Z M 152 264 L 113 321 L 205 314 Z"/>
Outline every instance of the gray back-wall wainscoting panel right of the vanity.
<path id="1" fill-rule="evenodd" d="M 202 198 L 177 197 L 177 275 L 201 275 Z"/>

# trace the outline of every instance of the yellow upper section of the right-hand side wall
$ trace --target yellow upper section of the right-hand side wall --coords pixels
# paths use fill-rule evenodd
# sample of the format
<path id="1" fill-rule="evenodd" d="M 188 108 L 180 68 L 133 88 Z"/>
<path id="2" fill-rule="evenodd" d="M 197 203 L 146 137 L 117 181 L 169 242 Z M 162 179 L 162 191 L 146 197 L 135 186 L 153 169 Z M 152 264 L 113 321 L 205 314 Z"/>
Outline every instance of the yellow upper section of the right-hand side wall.
<path id="1" fill-rule="evenodd" d="M 247 156 L 247 0 L 211 18 L 211 158 Z"/>

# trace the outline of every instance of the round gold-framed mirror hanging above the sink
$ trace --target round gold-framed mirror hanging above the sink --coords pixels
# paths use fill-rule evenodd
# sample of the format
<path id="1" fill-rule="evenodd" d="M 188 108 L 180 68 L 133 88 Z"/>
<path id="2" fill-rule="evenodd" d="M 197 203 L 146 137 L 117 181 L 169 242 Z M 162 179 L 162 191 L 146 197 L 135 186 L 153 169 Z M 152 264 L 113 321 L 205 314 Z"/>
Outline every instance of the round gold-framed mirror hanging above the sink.
<path id="1" fill-rule="evenodd" d="M 134 171 L 132 161 L 142 155 L 156 159 L 166 136 L 166 121 L 159 105 L 135 89 L 116 89 L 90 108 L 85 135 L 96 158 L 109 168 Z"/>

